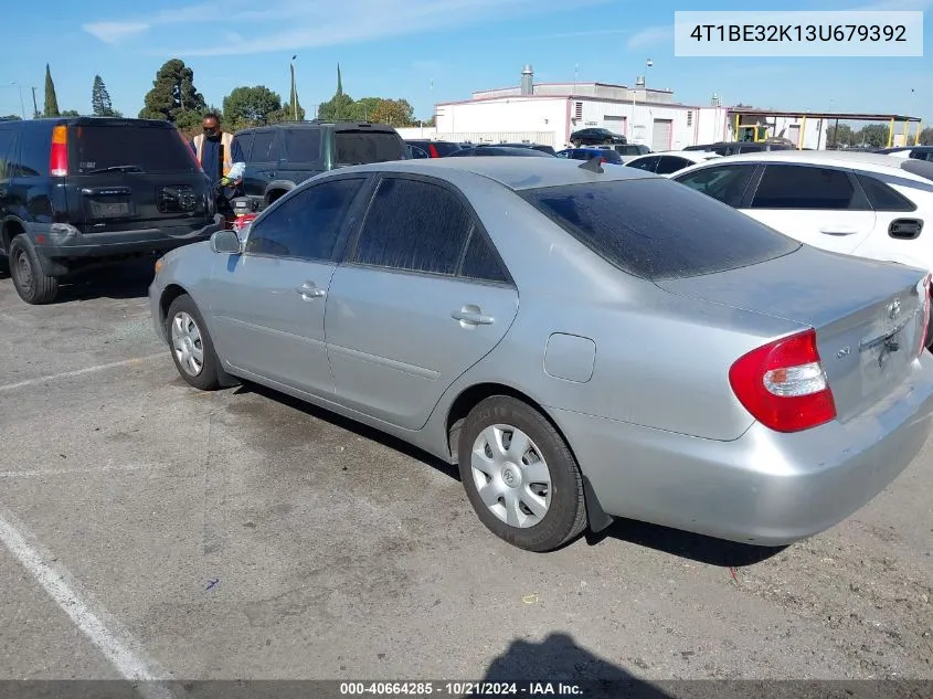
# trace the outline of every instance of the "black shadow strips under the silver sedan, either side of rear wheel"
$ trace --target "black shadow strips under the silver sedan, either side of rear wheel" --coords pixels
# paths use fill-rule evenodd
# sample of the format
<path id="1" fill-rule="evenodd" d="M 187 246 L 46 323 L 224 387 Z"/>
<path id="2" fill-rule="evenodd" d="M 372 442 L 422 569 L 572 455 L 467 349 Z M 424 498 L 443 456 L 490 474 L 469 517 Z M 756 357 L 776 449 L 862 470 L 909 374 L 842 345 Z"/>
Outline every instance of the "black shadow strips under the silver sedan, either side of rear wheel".
<path id="1" fill-rule="evenodd" d="M 449 476 L 454 480 L 460 480 L 459 468 L 457 466 L 452 466 L 450 464 L 447 464 L 446 462 L 412 446 L 407 442 L 403 442 L 402 439 L 385 434 L 384 432 L 380 432 L 379 430 L 360 424 L 348 417 L 331 413 L 324 407 L 306 403 L 305 401 L 291 398 L 285 393 L 279 393 L 274 389 L 268 389 L 257 383 L 244 381 L 234 390 L 234 395 L 242 395 L 246 393 L 254 393 L 271 401 L 288 405 L 289 407 L 300 411 L 306 415 L 328 422 L 336 427 L 340 427 L 341 430 L 351 432 L 365 439 L 377 442 L 391 449 L 401 452 L 402 454 L 417 459 L 423 464 Z M 776 555 L 786 548 L 765 548 L 724 541 L 722 539 L 714 539 L 712 537 L 704 537 L 702 534 L 696 534 L 688 531 L 681 531 L 679 529 L 671 529 L 669 527 L 661 527 L 659 525 L 651 525 L 630 519 L 616 519 L 612 525 L 600 532 L 594 533 L 587 529 L 584 534 L 584 539 L 590 546 L 595 546 L 607 538 L 634 543 L 662 553 L 669 553 L 671 555 L 719 568 L 740 568 L 761 563 L 762 561 Z M 575 540 L 571 540 L 560 548 L 563 549 L 572 546 L 574 541 Z"/>

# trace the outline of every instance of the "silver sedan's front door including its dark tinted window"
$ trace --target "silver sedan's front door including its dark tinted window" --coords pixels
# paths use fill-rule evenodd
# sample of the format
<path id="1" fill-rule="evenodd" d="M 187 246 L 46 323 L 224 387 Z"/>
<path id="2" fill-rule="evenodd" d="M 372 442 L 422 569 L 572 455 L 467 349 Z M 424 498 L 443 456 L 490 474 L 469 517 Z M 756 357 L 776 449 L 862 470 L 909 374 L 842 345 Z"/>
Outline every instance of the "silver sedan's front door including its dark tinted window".
<path id="1" fill-rule="evenodd" d="M 251 226 L 242 255 L 214 265 L 215 341 L 234 368 L 332 394 L 324 314 L 364 182 L 338 178 L 296 191 Z"/>

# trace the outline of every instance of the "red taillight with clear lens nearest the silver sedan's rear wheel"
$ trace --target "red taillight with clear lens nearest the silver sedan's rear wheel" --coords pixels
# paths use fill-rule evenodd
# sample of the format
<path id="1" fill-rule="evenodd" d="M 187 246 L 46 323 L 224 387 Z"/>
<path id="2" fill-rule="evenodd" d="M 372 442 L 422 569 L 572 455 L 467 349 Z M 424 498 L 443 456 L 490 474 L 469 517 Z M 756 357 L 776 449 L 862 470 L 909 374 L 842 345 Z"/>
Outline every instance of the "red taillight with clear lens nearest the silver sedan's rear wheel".
<path id="1" fill-rule="evenodd" d="M 745 410 L 776 432 L 799 432 L 836 417 L 813 329 L 741 357 L 729 370 L 729 383 Z"/>

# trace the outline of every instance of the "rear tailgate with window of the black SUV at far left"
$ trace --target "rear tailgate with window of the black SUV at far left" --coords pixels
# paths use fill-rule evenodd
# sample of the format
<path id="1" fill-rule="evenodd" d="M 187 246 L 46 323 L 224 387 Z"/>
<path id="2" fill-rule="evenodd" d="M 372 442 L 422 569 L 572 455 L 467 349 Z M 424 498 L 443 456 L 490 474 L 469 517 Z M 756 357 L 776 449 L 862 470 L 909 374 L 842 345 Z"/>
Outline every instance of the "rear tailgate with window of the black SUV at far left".
<path id="1" fill-rule="evenodd" d="M 201 223 L 208 178 L 172 126 L 78 121 L 67 128 L 68 205 L 85 234 Z"/>

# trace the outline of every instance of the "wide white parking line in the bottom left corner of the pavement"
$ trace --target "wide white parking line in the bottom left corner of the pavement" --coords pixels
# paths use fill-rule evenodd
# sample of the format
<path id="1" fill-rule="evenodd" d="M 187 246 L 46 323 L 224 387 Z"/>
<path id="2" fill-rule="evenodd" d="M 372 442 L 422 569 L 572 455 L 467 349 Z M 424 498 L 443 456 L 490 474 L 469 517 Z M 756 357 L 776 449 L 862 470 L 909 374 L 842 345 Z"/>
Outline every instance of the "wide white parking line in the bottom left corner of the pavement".
<path id="1" fill-rule="evenodd" d="M 167 675 L 151 660 L 145 659 L 139 642 L 126 632 L 114 631 L 113 623 L 105 624 L 102 619 L 109 614 L 93 610 L 76 591 L 71 573 L 54 562 L 47 552 L 41 551 L 38 544 L 31 543 L 29 539 L 32 537 L 12 520 L 9 515 L 0 515 L 0 541 L 117 671 L 130 681 L 140 682 L 135 689 L 145 699 L 178 699 L 171 689 L 159 684 Z"/>

